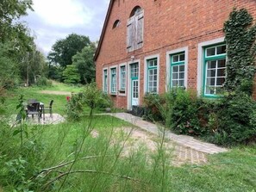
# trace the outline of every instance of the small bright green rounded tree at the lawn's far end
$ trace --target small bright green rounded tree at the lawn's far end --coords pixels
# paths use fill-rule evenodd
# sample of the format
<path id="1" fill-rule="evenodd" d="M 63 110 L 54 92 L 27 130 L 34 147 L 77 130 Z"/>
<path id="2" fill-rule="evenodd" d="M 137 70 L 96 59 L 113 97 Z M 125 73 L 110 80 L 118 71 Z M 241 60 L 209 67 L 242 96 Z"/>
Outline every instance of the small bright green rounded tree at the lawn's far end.
<path id="1" fill-rule="evenodd" d="M 67 65 L 63 71 L 63 78 L 65 84 L 78 84 L 80 80 L 78 68 L 75 65 Z"/>

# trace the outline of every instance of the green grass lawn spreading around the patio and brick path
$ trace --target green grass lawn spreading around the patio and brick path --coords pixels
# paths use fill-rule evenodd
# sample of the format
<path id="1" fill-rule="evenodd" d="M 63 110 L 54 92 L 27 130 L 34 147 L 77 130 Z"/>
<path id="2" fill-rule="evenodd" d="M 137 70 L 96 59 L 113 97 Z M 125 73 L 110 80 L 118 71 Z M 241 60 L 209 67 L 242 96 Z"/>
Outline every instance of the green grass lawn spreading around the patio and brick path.
<path id="1" fill-rule="evenodd" d="M 54 86 L 55 84 L 50 89 Z M 69 91 L 66 85 L 56 86 L 56 90 Z M 9 91 L 6 100 L 8 110 L 5 110 L 5 114 L 16 111 L 20 94 L 24 95 L 25 100 L 36 98 L 47 103 L 53 99 L 53 112 L 66 114 L 66 96 L 40 94 L 40 90 L 22 88 Z M 14 130 L 6 129 L 1 124 L 0 191 L 1 185 L 3 191 L 13 191 L 13 186 L 23 177 L 22 173 L 26 175 L 31 171 L 28 174 L 31 179 L 34 174 L 38 174 L 38 170 L 69 163 L 78 158 L 75 164 L 67 164 L 46 172 L 45 177 L 39 177 L 35 180 L 38 186 L 34 187 L 34 191 L 58 191 L 65 177 L 48 184 L 47 188 L 41 188 L 41 185 L 52 181 L 59 174 L 64 174 L 72 166 L 72 170 L 79 171 L 66 178 L 60 191 L 255 192 L 256 146 L 239 146 L 229 152 L 209 155 L 207 164 L 175 167 L 166 163 L 172 156 L 161 150 L 149 152 L 147 147 L 141 146 L 121 156 L 122 146 L 129 138 L 127 133 L 116 133 L 119 127 L 133 126 L 107 115 L 95 115 L 92 118 L 84 115 L 81 121 L 25 127 L 28 138 L 25 137 L 21 150 L 19 135 L 13 136 Z M 21 155 L 28 163 L 22 165 L 24 169 L 18 163 L 9 164 L 6 168 L 6 162 L 18 159 Z M 25 180 L 24 183 L 28 184 L 28 181 Z"/>

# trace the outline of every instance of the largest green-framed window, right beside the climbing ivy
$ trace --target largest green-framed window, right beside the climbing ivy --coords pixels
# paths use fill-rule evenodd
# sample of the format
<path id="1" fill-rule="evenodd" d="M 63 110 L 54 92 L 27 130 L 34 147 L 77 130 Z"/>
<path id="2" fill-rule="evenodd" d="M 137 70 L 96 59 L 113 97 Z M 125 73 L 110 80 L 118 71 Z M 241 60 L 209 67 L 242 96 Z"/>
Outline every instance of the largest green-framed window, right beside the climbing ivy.
<path id="1" fill-rule="evenodd" d="M 204 47 L 203 96 L 222 95 L 222 88 L 226 80 L 226 48 L 226 44 Z"/>

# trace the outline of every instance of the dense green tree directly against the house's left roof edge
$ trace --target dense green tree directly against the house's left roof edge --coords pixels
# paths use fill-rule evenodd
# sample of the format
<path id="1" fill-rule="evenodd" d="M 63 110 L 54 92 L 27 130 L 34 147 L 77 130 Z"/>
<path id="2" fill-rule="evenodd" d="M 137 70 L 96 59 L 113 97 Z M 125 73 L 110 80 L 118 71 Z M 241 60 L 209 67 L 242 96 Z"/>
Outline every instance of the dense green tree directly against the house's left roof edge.
<path id="1" fill-rule="evenodd" d="M 72 57 L 72 65 L 76 65 L 82 84 L 90 84 L 95 79 L 95 63 L 93 56 L 96 51 L 95 44 L 85 46 L 81 53 Z"/>

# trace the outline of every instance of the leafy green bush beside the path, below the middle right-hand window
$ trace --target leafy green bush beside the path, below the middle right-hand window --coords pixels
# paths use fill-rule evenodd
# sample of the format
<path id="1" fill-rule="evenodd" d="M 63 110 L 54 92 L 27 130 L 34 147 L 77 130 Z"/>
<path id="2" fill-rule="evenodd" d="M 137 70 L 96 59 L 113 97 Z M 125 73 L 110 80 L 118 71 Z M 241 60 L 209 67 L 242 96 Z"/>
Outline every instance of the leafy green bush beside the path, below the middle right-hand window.
<path id="1" fill-rule="evenodd" d="M 202 100 L 183 89 L 173 89 L 164 95 L 147 94 L 144 97 L 146 119 L 162 121 L 177 133 L 201 135 L 200 106 Z"/>

